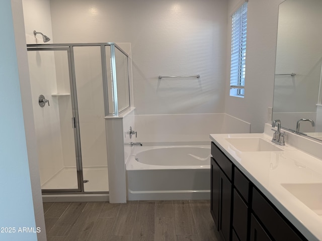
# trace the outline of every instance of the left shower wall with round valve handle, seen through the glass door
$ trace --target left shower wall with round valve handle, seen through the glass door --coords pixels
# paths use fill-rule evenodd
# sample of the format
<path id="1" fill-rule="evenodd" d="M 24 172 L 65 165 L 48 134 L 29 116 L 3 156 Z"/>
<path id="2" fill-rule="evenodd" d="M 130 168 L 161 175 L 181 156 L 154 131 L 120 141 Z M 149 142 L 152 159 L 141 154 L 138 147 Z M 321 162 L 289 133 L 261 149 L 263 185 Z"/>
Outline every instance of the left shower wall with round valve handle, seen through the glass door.
<path id="1" fill-rule="evenodd" d="M 40 180 L 44 184 L 63 167 L 58 101 L 51 96 L 57 92 L 54 54 L 29 51 L 28 62 Z M 48 103 L 44 107 L 39 106 L 40 94 L 49 99 L 50 106 Z"/>

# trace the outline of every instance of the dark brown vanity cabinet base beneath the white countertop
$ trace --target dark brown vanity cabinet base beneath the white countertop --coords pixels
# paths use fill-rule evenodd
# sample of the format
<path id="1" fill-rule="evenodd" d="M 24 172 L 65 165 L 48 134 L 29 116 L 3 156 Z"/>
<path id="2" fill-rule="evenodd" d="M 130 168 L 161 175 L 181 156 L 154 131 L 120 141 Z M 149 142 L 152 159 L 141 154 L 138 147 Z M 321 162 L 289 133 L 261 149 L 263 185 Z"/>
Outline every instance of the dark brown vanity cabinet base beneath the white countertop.
<path id="1" fill-rule="evenodd" d="M 211 143 L 210 212 L 224 241 L 307 240 Z"/>

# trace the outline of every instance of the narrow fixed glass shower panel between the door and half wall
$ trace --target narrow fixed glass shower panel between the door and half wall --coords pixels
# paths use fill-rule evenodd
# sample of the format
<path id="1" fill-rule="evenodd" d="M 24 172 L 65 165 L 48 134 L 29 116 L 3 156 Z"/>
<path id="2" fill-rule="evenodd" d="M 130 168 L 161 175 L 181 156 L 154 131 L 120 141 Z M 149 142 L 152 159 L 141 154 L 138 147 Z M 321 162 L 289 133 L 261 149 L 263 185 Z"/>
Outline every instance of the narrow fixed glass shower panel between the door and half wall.
<path id="1" fill-rule="evenodd" d="M 73 46 L 84 192 L 107 192 L 108 166 L 101 46 Z"/>

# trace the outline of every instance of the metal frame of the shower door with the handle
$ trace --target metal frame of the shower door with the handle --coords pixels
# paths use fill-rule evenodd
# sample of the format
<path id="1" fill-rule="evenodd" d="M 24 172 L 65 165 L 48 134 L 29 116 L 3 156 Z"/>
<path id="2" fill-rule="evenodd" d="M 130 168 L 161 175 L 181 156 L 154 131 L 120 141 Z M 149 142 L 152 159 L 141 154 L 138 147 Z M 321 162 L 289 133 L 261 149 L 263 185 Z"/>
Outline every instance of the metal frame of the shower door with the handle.
<path id="1" fill-rule="evenodd" d="M 66 46 L 66 45 L 65 45 Z M 77 106 L 77 93 L 76 93 L 76 80 L 75 80 L 75 68 L 74 68 L 74 56 L 72 46 L 67 47 L 56 47 L 49 45 L 43 47 L 43 45 L 28 45 L 27 51 L 66 51 L 68 59 L 68 74 L 70 84 L 70 99 L 72 106 L 72 116 L 75 119 L 74 125 L 74 140 L 75 140 L 75 162 L 76 162 L 76 173 L 77 173 L 77 189 L 42 189 L 43 193 L 52 192 L 83 192 L 84 191 L 84 180 L 83 180 L 83 166 L 82 166 L 82 150 L 81 150 L 81 139 L 79 134 L 79 118 L 78 118 L 78 106 Z"/>

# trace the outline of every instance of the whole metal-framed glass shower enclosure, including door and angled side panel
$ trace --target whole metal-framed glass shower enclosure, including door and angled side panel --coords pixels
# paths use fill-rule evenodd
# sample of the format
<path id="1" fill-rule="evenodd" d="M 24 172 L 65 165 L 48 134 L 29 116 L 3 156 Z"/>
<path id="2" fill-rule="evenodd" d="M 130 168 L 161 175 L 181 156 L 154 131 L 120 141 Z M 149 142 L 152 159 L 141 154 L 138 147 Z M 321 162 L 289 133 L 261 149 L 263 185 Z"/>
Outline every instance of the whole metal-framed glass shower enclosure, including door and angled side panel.
<path id="1" fill-rule="evenodd" d="M 108 192 L 104 117 L 130 107 L 128 55 L 114 43 L 27 50 L 43 193 Z"/>

